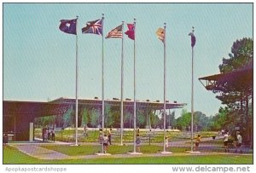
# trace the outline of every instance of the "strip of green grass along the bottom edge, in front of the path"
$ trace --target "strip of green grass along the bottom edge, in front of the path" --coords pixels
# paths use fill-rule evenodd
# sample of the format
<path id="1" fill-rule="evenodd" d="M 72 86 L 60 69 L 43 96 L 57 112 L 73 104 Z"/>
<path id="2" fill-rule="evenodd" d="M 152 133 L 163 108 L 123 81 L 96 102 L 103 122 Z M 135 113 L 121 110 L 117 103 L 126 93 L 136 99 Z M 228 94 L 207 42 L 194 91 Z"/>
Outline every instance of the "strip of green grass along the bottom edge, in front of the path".
<path id="1" fill-rule="evenodd" d="M 4 146 L 3 164 L 253 164 L 253 155 L 39 160 L 20 153 L 14 147 Z"/>

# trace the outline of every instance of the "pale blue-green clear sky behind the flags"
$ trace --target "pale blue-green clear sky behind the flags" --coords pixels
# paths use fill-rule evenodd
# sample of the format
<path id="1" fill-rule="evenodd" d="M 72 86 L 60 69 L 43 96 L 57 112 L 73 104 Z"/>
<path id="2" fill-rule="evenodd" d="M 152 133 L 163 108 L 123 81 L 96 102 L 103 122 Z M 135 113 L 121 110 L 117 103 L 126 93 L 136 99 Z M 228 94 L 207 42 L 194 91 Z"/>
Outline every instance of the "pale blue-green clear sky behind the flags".
<path id="1" fill-rule="evenodd" d="M 166 23 L 166 100 L 191 109 L 191 45 L 194 110 L 207 116 L 224 107 L 198 78 L 216 74 L 236 39 L 253 37 L 253 3 L 4 3 L 3 100 L 75 98 L 76 37 L 60 20 L 78 20 L 79 99 L 102 98 L 102 36 L 82 34 L 102 18 L 103 36 L 136 18 L 137 100 L 164 100 L 164 47 L 155 32 Z M 120 38 L 104 39 L 105 99 L 120 97 Z M 124 36 L 124 98 L 133 99 L 133 41 Z M 175 110 L 179 116 L 181 110 Z"/>

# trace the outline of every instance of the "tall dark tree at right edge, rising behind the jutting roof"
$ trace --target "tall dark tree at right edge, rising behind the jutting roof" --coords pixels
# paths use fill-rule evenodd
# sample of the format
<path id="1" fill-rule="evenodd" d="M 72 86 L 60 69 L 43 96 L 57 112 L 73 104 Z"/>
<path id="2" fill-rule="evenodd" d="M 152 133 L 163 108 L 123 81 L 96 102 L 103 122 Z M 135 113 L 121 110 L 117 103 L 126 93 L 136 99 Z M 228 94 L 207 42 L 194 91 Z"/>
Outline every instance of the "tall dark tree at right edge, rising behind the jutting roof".
<path id="1" fill-rule="evenodd" d="M 238 72 L 253 68 L 253 39 L 242 38 L 236 40 L 231 48 L 229 58 L 223 58 L 223 64 L 219 65 L 219 71 Z M 234 77 L 236 78 L 236 76 Z M 253 78 L 241 78 L 236 84 L 223 83 L 218 81 L 218 86 L 222 89 L 213 89 L 214 93 L 220 93 L 216 97 L 227 105 L 227 116 L 232 119 L 230 125 L 234 127 L 239 124 L 241 130 L 247 134 L 247 139 L 252 136 L 252 114 L 249 112 L 249 101 L 253 97 Z M 235 129 L 235 128 L 234 128 Z M 247 129 L 247 130 L 246 130 Z"/>

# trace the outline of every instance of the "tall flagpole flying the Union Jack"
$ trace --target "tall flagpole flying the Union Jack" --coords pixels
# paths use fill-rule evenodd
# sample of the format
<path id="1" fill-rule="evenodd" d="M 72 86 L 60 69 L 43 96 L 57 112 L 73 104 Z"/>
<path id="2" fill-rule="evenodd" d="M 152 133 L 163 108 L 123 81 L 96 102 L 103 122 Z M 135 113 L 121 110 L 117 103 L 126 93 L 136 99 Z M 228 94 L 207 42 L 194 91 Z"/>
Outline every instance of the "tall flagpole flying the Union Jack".
<path id="1" fill-rule="evenodd" d="M 103 37 L 103 27 L 104 27 L 104 14 L 102 14 L 102 136 L 104 136 L 104 37 Z M 102 142 L 102 153 L 104 153 L 104 146 Z"/>

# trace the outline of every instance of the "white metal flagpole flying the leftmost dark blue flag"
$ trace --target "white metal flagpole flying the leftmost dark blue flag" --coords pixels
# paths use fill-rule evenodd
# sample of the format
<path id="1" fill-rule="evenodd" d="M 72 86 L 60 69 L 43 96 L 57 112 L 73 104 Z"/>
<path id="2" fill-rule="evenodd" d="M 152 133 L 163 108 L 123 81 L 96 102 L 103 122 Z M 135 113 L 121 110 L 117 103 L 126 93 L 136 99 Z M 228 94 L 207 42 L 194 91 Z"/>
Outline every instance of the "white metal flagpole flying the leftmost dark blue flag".
<path id="1" fill-rule="evenodd" d="M 78 20 L 79 16 L 77 16 L 77 23 L 76 25 L 78 26 Z M 76 26 L 76 30 L 77 27 Z M 76 31 L 77 32 L 77 31 Z M 78 144 L 78 126 L 79 126 L 79 43 L 78 43 L 78 34 L 76 34 L 76 141 L 75 141 L 75 146 L 79 146 Z"/>

